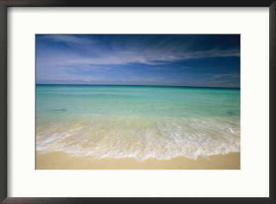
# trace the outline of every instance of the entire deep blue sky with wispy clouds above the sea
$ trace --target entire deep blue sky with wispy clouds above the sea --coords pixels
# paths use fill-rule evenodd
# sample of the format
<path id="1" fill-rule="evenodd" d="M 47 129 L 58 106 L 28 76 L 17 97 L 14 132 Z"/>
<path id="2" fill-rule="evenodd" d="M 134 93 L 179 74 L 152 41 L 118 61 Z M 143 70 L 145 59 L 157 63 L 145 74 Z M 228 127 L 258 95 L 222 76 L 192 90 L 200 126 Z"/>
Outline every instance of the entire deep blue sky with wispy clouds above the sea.
<path id="1" fill-rule="evenodd" d="M 240 87 L 239 34 L 37 34 L 37 84 Z"/>

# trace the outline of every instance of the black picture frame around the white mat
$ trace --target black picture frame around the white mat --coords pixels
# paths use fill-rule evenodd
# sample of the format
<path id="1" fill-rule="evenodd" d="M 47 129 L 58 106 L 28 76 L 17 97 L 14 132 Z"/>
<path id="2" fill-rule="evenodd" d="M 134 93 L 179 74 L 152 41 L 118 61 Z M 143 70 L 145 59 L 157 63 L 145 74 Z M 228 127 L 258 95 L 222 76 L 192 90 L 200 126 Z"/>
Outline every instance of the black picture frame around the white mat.
<path id="1" fill-rule="evenodd" d="M 0 0 L 0 202 L 1 203 L 275 203 L 275 0 Z M 15 198 L 7 197 L 8 7 L 269 7 L 269 197 L 252 198 Z M 253 178 L 254 180 L 254 178 Z"/>

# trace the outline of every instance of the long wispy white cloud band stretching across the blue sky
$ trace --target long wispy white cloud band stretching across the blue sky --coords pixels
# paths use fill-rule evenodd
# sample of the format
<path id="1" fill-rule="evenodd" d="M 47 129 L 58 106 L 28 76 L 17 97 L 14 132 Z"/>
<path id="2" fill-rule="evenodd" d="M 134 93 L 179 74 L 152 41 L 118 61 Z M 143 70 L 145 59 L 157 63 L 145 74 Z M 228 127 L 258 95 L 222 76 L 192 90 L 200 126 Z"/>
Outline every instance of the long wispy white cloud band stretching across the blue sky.
<path id="1" fill-rule="evenodd" d="M 182 51 L 175 50 L 115 50 L 98 54 L 97 56 L 79 57 L 79 54 L 53 53 L 44 63 L 50 65 L 128 65 L 141 63 L 145 65 L 164 65 L 175 61 L 189 59 L 204 59 L 211 57 L 239 57 L 238 50 L 207 50 L 207 51 Z"/>

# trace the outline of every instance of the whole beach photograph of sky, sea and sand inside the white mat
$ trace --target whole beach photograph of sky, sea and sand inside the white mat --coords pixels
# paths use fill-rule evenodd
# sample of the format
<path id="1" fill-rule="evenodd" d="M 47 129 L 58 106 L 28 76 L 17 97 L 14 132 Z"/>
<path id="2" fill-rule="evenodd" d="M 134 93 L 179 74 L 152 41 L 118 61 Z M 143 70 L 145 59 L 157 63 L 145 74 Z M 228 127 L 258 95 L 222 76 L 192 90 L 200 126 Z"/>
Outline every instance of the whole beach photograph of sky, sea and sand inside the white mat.
<path id="1" fill-rule="evenodd" d="M 36 170 L 240 170 L 239 34 L 36 34 Z"/>

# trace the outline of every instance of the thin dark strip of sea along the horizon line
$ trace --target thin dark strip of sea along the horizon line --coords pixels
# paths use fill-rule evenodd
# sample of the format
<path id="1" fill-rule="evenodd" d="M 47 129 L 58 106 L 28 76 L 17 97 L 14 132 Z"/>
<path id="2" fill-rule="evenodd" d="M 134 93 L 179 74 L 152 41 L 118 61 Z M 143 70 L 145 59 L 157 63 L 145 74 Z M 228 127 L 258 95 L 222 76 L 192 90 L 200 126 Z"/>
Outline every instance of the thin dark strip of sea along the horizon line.
<path id="1" fill-rule="evenodd" d="M 137 85 L 137 86 L 166 86 L 166 87 L 186 87 L 186 88 L 235 88 L 240 87 L 215 87 L 215 86 L 191 86 L 191 85 L 139 85 L 139 84 L 81 84 L 81 83 L 36 83 L 35 85 Z"/>

